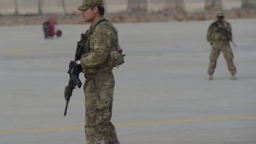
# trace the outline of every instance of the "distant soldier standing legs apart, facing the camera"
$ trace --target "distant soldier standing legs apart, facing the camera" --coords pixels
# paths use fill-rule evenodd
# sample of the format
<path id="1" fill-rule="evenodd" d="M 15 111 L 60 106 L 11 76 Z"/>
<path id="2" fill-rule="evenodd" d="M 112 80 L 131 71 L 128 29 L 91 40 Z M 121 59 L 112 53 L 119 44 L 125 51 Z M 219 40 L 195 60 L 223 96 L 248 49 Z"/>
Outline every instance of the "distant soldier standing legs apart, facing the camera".
<path id="1" fill-rule="evenodd" d="M 236 67 L 234 65 L 233 59 L 234 55 L 230 47 L 229 41 L 232 39 L 232 29 L 229 22 L 224 20 L 223 12 L 217 13 L 218 20 L 213 22 L 208 31 L 207 31 L 207 41 L 212 45 L 211 55 L 210 55 L 210 66 L 208 69 L 209 80 L 213 79 L 214 69 L 217 65 L 217 59 L 219 57 L 220 52 L 223 53 L 228 69 L 231 73 L 231 79 L 236 79 Z M 227 36 L 224 36 L 219 29 L 225 29 L 227 31 Z"/>

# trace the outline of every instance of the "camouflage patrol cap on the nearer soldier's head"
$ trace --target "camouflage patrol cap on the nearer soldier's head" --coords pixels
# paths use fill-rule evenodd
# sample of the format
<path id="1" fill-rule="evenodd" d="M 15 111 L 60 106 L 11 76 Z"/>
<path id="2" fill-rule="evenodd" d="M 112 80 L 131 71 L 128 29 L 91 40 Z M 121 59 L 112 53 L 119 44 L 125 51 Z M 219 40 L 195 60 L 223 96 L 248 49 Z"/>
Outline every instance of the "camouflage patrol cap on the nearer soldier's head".
<path id="1" fill-rule="evenodd" d="M 84 0 L 83 4 L 78 6 L 77 9 L 80 11 L 84 11 L 89 8 L 93 8 L 94 6 L 104 7 L 103 0 Z"/>

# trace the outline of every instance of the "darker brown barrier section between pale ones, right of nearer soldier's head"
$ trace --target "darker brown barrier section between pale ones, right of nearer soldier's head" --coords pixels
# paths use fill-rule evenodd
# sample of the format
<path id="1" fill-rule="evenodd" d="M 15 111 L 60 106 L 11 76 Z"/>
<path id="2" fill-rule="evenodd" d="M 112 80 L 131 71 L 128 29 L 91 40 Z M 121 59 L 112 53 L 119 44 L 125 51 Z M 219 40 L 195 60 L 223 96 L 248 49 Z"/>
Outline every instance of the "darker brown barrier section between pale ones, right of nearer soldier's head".
<path id="1" fill-rule="evenodd" d="M 127 10 L 129 11 L 147 11 L 147 0 L 127 0 Z"/>

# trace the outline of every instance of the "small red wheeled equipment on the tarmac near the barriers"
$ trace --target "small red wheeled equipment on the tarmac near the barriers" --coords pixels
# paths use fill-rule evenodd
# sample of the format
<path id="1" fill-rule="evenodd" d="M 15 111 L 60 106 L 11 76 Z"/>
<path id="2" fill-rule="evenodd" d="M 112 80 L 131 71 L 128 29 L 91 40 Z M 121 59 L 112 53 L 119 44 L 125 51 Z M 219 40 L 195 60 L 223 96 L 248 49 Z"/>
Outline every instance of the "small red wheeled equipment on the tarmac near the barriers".
<path id="1" fill-rule="evenodd" d="M 58 23 L 55 20 L 49 19 L 43 23 L 44 38 L 52 38 L 54 35 L 60 37 L 62 35 L 61 30 L 58 28 Z M 57 29 L 55 31 L 55 29 Z"/>

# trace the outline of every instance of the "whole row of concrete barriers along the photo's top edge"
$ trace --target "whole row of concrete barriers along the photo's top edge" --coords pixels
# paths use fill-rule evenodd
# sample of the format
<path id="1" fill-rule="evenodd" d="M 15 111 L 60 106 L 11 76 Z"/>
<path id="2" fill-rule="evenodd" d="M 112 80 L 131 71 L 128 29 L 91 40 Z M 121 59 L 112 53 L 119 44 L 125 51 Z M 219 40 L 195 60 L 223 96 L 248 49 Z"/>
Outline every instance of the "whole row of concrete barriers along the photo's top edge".
<path id="1" fill-rule="evenodd" d="M 182 0 L 185 10 L 203 11 L 206 7 L 209 10 L 230 10 L 233 8 L 246 7 L 255 9 L 255 0 Z M 0 0 L 1 15 L 30 15 L 30 14 L 78 14 L 77 6 L 83 0 Z M 103 0 L 106 12 L 118 12 L 125 10 L 140 9 L 151 11 L 175 10 L 179 0 Z M 217 5 L 212 5 L 214 4 Z M 221 6 L 222 4 L 222 6 Z M 183 5 L 183 4 L 182 4 Z"/>

